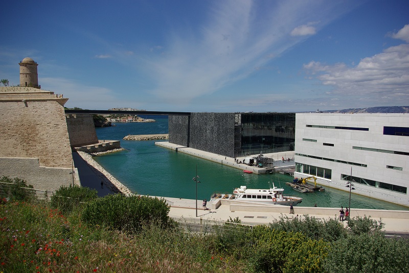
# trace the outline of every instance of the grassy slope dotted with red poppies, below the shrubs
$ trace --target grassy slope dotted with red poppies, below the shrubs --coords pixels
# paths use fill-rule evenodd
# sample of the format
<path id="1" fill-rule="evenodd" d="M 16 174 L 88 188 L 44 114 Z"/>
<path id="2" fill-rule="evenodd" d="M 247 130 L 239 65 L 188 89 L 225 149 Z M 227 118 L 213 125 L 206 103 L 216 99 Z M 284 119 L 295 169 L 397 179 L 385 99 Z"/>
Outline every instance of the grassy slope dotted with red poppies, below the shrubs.
<path id="1" fill-rule="evenodd" d="M 242 272 L 212 236 L 144 225 L 129 235 L 87 226 L 80 209 L 63 215 L 48 203 L 0 206 L 1 272 Z"/>

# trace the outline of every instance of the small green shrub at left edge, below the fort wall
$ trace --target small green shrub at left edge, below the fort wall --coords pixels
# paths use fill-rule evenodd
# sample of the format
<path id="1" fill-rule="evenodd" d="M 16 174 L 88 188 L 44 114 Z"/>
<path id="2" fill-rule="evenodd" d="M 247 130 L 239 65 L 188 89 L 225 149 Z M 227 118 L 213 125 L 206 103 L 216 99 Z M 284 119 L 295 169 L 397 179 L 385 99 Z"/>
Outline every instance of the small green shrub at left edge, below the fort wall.
<path id="1" fill-rule="evenodd" d="M 11 185 L 1 185 L 2 197 L 9 198 L 9 200 L 27 201 L 32 197 L 35 197 L 35 190 L 33 185 L 27 185 L 27 182 L 20 178 L 11 179 L 3 176 L 0 179 L 1 183 L 10 183 Z"/>

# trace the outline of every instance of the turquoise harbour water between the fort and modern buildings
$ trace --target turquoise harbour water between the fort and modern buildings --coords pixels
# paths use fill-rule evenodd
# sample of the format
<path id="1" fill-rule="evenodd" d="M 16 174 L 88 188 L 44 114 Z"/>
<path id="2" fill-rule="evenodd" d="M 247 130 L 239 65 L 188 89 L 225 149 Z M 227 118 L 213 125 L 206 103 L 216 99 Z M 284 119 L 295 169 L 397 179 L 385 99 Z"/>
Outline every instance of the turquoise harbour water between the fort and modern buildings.
<path id="1" fill-rule="evenodd" d="M 121 140 L 126 151 L 94 157 L 107 171 L 130 190 L 139 194 L 179 198 L 207 198 L 215 191 L 231 193 L 234 188 L 268 188 L 268 182 L 284 188 L 286 195 L 303 197 L 301 206 L 348 207 L 349 192 L 326 188 L 323 192 L 300 193 L 285 185 L 292 177 L 280 173 L 271 175 L 244 174 L 242 170 L 200 159 L 167 148 L 156 146 L 155 141 L 123 140 L 126 135 L 166 134 L 168 119 L 156 119 L 152 123 L 115 123 L 115 127 L 97 128 L 99 139 Z M 373 198 L 352 194 L 352 208 L 407 210 L 407 208 Z"/>

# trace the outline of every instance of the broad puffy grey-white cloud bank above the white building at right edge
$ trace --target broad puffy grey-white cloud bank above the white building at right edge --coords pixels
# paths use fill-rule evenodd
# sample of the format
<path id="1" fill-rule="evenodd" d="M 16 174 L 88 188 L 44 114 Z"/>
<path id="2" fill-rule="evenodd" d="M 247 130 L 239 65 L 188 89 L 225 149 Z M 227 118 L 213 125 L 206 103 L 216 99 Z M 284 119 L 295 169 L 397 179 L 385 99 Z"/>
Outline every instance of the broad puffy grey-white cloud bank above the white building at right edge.
<path id="1" fill-rule="evenodd" d="M 408 27 L 402 30 L 405 29 Z M 400 38 L 404 37 L 402 30 L 396 34 Z M 323 85 L 333 86 L 331 95 L 378 100 L 378 105 L 409 102 L 409 44 L 391 46 L 380 54 L 361 59 L 353 67 L 311 61 L 304 64 L 304 69 L 316 75 Z"/>

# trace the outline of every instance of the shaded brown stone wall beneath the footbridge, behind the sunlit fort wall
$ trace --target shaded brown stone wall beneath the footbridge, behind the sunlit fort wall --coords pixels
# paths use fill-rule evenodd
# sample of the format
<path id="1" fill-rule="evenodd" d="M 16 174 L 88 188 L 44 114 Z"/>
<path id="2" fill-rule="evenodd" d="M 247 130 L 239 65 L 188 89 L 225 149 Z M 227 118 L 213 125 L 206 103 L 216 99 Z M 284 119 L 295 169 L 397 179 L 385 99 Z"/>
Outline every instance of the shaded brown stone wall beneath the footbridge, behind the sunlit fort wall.
<path id="1" fill-rule="evenodd" d="M 98 143 L 92 115 L 67 114 L 66 123 L 71 147 Z"/>

